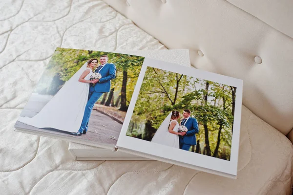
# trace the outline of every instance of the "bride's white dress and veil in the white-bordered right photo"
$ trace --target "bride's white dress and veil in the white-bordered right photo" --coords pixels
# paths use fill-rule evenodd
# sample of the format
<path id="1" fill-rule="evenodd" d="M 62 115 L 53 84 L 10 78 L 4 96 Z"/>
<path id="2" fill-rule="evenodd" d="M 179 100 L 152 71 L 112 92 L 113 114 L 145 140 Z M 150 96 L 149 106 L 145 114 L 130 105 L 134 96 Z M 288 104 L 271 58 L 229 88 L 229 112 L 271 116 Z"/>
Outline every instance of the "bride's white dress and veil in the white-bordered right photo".
<path id="1" fill-rule="evenodd" d="M 163 123 L 160 125 L 159 129 L 156 131 L 155 135 L 151 139 L 151 142 L 155 142 L 158 144 L 163 144 L 166 146 L 170 146 L 173 148 L 179 148 L 179 136 L 168 131 L 168 126 L 171 124 L 172 112 L 166 117 Z M 173 131 L 178 132 L 179 123 L 176 121 L 176 125 L 173 128 Z"/>

